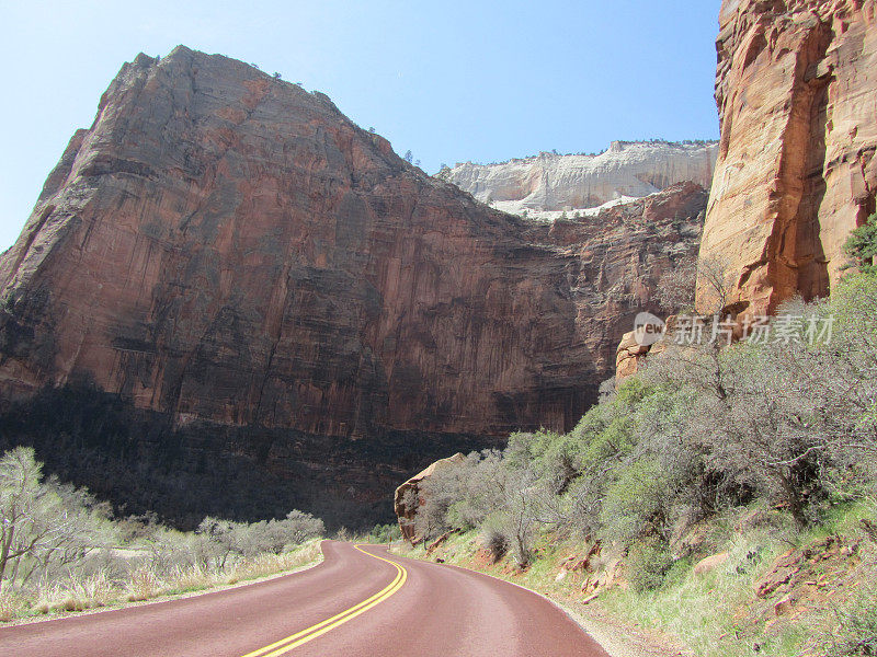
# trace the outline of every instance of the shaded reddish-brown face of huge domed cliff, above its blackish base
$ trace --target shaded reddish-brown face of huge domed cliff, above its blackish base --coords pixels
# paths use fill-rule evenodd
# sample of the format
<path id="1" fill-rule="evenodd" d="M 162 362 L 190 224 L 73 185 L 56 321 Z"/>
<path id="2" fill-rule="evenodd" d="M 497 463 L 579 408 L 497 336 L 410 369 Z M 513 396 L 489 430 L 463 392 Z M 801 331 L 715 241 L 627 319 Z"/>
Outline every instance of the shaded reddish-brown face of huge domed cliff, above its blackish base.
<path id="1" fill-rule="evenodd" d="M 565 263 L 521 233 L 324 96 L 138 57 L 0 265 L 4 380 L 328 436 L 561 426 L 592 368 Z"/>

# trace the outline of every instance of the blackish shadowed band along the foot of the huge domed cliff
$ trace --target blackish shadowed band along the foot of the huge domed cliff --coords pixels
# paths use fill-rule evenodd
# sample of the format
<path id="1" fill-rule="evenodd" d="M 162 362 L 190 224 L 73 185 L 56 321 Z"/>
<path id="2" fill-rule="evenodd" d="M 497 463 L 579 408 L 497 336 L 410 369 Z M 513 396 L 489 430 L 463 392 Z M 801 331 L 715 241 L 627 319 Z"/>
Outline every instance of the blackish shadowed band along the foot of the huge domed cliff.
<path id="1" fill-rule="evenodd" d="M 193 423 L 135 408 L 89 383 L 45 389 L 0 415 L 0 450 L 34 447 L 46 474 L 87 486 L 119 516 L 156 512 L 181 529 L 206 515 L 280 518 L 298 508 L 332 530 L 391 522 L 412 472 L 483 439 L 388 431 L 361 440 Z"/>

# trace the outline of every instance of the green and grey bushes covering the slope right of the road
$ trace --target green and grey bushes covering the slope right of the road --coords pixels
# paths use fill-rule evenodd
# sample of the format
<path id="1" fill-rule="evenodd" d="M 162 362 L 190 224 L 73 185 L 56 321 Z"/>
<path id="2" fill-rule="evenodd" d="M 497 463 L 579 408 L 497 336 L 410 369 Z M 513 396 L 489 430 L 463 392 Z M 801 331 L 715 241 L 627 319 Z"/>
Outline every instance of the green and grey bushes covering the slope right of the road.
<path id="1" fill-rule="evenodd" d="M 877 475 L 877 279 L 795 302 L 775 341 L 672 345 L 566 435 L 515 434 L 426 484 L 418 532 L 490 527 L 522 565 L 537 527 L 623 544 L 766 499 L 807 528 Z M 831 335 L 807 337 L 810 326 Z M 790 324 L 800 338 L 786 337 Z M 511 531 L 514 528 L 515 531 Z"/>

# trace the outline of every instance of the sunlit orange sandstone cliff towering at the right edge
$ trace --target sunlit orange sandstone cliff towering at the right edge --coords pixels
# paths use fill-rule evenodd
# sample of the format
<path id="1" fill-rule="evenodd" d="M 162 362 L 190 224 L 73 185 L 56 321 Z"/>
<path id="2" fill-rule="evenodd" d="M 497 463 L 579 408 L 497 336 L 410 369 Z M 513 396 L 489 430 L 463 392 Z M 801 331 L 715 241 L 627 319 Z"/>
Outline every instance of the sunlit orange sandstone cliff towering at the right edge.
<path id="1" fill-rule="evenodd" d="M 702 253 L 727 261 L 734 311 L 827 293 L 875 211 L 876 14 L 875 0 L 722 2 Z"/>

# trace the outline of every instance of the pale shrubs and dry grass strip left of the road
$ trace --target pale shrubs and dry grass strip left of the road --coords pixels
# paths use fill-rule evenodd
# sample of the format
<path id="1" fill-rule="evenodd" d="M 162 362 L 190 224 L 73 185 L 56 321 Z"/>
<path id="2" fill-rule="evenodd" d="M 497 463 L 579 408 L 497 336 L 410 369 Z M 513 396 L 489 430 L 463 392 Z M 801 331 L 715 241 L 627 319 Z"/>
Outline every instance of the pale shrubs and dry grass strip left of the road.
<path id="1" fill-rule="evenodd" d="M 84 489 L 43 481 L 33 450 L 15 448 L 0 457 L 0 621 L 277 573 L 316 558 L 293 549 L 322 532 L 297 510 L 253 523 L 208 517 L 197 532 L 155 516 L 115 521 Z"/>

